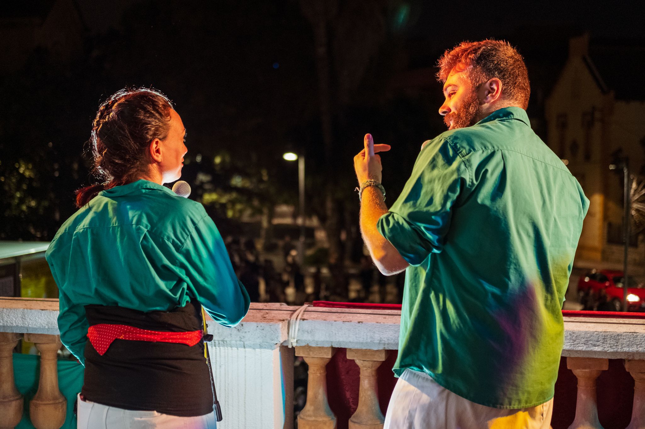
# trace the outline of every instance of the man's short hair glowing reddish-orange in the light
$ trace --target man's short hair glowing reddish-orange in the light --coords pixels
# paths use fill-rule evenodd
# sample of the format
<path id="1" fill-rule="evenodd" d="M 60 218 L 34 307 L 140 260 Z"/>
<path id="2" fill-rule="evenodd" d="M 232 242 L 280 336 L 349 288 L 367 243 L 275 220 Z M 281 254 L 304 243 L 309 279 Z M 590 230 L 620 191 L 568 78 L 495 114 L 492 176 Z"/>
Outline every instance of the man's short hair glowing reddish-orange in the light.
<path id="1" fill-rule="evenodd" d="M 450 71 L 457 65 L 468 69 L 474 87 L 493 77 L 502 82 L 502 98 L 526 110 L 531 86 L 522 56 L 505 41 L 486 39 L 481 42 L 461 42 L 446 50 L 439 59 L 437 77 L 446 82 Z"/>

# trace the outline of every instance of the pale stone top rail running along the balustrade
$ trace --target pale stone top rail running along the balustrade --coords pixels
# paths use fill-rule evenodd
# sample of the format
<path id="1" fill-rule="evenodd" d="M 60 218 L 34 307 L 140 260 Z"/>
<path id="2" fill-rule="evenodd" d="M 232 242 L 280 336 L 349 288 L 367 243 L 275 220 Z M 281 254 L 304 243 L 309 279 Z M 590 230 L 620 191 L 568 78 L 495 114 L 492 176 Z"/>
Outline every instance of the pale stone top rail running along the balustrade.
<path id="1" fill-rule="evenodd" d="M 299 307 L 251 304 L 232 328 L 208 321 L 217 347 L 273 349 L 286 345 L 290 320 Z M 58 334 L 58 300 L 0 298 L 0 332 Z M 308 307 L 301 316 L 296 345 L 397 349 L 401 311 Z M 291 322 L 293 323 L 293 322 Z M 645 320 L 564 318 L 563 356 L 645 359 Z"/>

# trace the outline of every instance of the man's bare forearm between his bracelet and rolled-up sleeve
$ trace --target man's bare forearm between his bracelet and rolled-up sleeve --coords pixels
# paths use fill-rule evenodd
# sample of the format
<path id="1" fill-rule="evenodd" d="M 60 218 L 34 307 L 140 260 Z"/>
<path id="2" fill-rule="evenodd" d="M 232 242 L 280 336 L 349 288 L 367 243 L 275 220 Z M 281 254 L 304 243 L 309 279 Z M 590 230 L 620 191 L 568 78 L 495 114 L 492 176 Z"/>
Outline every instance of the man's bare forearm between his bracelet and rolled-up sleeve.
<path id="1" fill-rule="evenodd" d="M 379 271 L 384 275 L 394 275 L 406 269 L 408 262 L 401 257 L 399 251 L 376 228 L 379 217 L 387 212 L 388 208 L 383 201 L 381 191 L 376 187 L 365 188 L 361 199 L 361 234 L 363 241 Z"/>

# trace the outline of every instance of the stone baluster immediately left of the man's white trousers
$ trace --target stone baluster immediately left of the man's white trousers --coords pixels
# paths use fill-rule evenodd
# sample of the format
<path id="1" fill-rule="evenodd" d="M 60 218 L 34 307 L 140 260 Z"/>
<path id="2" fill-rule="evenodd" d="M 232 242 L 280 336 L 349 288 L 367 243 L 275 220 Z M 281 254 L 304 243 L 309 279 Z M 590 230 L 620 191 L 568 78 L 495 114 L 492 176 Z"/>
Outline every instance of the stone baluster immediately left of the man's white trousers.
<path id="1" fill-rule="evenodd" d="M 347 349 L 347 358 L 361 368 L 359 405 L 350 417 L 349 429 L 382 429 L 385 418 L 379 406 L 376 370 L 388 357 L 386 350 Z"/>

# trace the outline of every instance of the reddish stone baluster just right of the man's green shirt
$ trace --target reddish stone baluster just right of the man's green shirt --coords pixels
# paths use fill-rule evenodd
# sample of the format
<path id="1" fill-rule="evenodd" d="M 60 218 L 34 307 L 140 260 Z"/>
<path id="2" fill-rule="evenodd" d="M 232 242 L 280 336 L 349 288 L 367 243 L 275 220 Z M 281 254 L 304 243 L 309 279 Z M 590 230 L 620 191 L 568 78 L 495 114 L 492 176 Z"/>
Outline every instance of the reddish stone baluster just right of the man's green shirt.
<path id="1" fill-rule="evenodd" d="M 602 429 L 598 421 L 596 379 L 609 368 L 608 359 L 566 358 L 566 367 L 578 378 L 575 419 L 569 429 Z"/>

